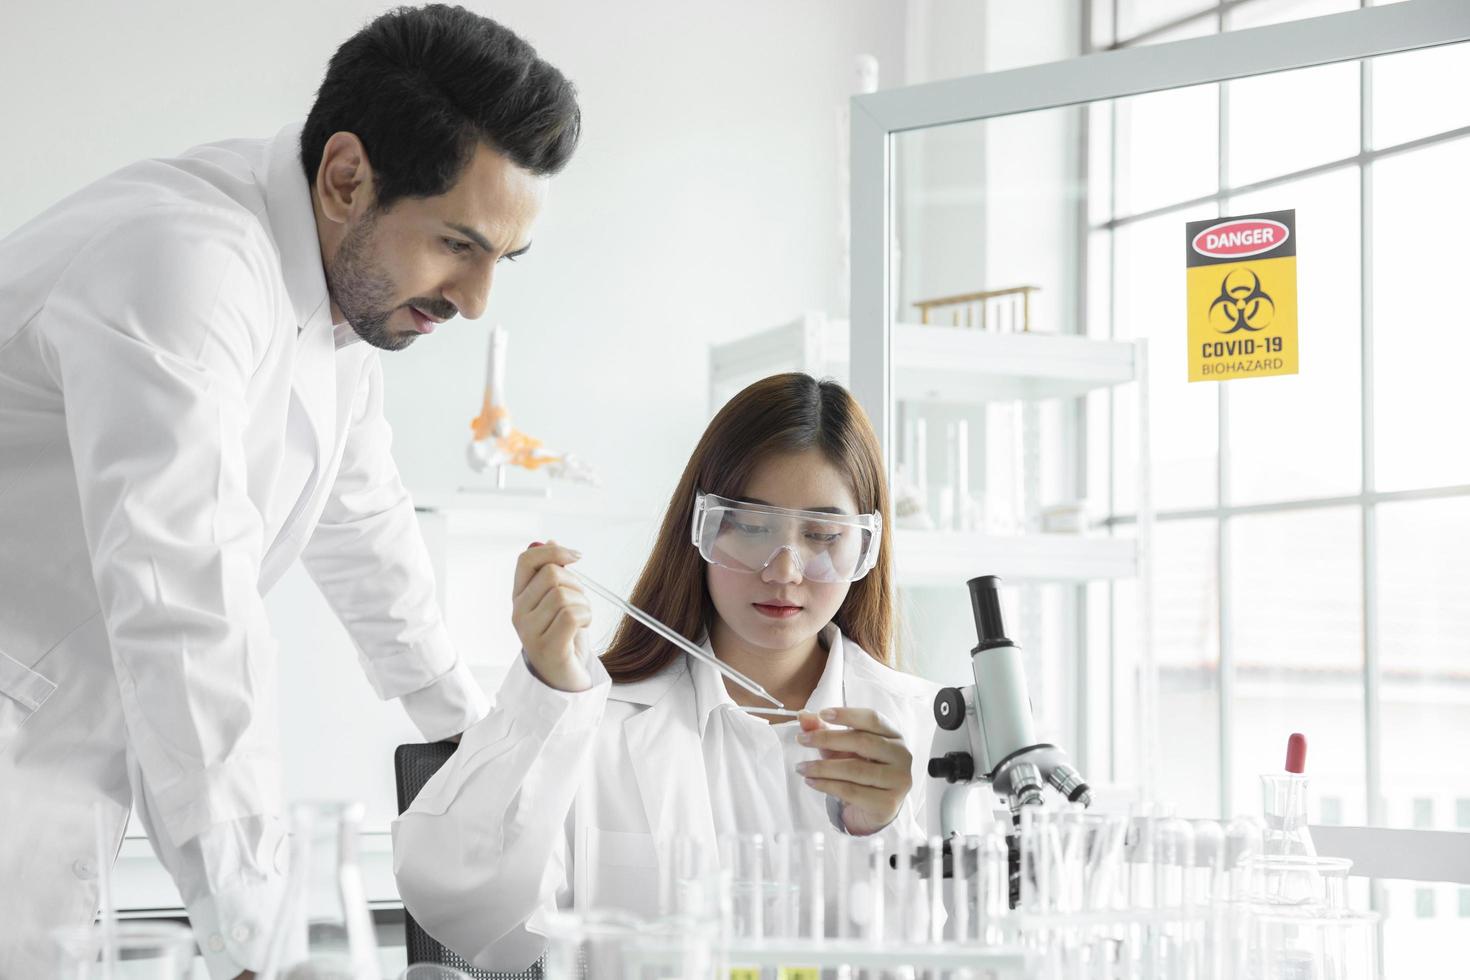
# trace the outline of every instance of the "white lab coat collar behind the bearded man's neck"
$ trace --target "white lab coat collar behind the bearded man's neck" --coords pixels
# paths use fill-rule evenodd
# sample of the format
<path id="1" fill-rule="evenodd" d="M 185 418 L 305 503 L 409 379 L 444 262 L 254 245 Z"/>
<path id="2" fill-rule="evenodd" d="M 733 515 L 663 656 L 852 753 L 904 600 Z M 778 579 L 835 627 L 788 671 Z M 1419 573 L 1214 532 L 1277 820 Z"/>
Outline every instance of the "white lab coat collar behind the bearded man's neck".
<path id="1" fill-rule="evenodd" d="M 281 275 L 300 331 L 318 326 L 331 332 L 332 307 L 326 301 L 322 244 L 316 237 L 312 192 L 301 170 L 301 123 L 275 135 L 266 154 L 266 215 L 281 251 Z"/>

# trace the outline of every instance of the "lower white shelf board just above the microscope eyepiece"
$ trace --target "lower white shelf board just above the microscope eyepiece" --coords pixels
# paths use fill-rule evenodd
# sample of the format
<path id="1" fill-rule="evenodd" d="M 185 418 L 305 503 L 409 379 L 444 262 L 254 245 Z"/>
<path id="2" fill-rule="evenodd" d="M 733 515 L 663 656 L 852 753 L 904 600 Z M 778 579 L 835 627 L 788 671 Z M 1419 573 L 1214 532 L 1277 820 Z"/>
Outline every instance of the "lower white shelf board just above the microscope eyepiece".
<path id="1" fill-rule="evenodd" d="M 1132 538 L 1082 535 L 986 535 L 894 530 L 894 572 L 900 586 L 958 586 L 978 574 L 1007 582 L 1095 582 L 1138 574 Z"/>

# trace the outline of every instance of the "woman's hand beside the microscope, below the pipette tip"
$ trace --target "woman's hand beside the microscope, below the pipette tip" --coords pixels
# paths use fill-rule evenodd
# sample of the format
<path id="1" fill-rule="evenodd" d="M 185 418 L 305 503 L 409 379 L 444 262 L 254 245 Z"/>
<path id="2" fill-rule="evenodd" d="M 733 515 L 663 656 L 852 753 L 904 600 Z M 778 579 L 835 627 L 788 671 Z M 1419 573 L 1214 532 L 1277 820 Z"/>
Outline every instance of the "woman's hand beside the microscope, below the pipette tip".
<path id="1" fill-rule="evenodd" d="M 826 708 L 820 718 L 803 713 L 800 721 L 797 741 L 822 749 L 822 758 L 797 771 L 811 789 L 842 801 L 847 832 L 866 836 L 891 824 L 914 782 L 913 755 L 894 726 L 870 708 Z"/>

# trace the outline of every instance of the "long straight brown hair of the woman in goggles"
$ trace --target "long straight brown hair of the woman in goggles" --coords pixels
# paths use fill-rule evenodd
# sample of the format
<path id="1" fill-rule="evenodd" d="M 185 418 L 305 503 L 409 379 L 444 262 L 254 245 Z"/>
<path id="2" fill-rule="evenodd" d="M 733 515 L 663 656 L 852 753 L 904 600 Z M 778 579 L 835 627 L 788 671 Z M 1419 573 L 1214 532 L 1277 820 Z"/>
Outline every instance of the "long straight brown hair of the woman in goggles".
<path id="1" fill-rule="evenodd" d="M 875 660 L 892 660 L 892 520 L 878 436 L 842 385 L 810 375 L 775 375 L 750 385 L 720 408 L 700 438 L 669 500 L 632 604 L 694 642 L 714 621 L 704 560 L 689 541 L 695 492 L 739 500 L 751 473 L 769 455 L 820 450 L 850 480 L 857 510 L 883 517 L 878 564 L 848 589 L 833 621 Z M 659 673 L 681 652 L 623 617 L 603 666 L 617 683 Z"/>

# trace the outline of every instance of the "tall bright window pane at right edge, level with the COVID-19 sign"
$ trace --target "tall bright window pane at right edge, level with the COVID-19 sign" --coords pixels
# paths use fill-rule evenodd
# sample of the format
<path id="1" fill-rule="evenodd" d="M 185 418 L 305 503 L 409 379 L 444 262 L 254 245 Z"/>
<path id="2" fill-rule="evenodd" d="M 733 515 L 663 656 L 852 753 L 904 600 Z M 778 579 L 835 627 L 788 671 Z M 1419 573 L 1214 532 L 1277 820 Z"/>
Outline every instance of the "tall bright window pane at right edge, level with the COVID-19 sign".
<path id="1" fill-rule="evenodd" d="M 1470 483 L 1464 244 L 1470 140 L 1373 166 L 1377 486 Z"/>

